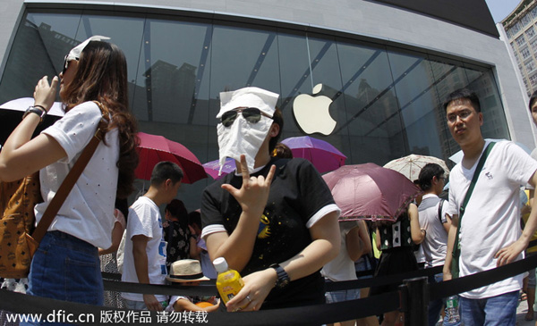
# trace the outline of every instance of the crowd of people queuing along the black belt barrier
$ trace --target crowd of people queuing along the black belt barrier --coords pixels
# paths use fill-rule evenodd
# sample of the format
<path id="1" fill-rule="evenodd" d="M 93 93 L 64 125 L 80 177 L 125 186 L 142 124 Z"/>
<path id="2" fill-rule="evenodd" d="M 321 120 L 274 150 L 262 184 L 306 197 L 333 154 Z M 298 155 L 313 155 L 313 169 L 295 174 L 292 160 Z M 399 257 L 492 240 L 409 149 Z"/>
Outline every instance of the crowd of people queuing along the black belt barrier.
<path id="1" fill-rule="evenodd" d="M 414 182 L 422 196 L 407 203 L 394 221 L 340 221 L 340 209 L 320 173 L 278 143 L 284 129 L 279 96 L 253 87 L 220 93 L 219 162 L 230 157 L 237 168 L 205 188 L 200 210 L 189 213 L 176 198 L 183 171 L 171 162 L 154 167 L 147 192 L 127 207 L 138 163 L 137 124 L 129 111 L 124 54 L 106 39 L 82 42 L 65 56 L 59 79 L 38 81 L 35 104 L 0 152 L 2 181 L 40 171 L 44 202 L 35 207 L 39 222 L 97 128 L 106 131 L 40 242 L 28 282 L 22 280 L 29 295 L 209 313 L 336 303 L 396 290 L 392 284 L 326 292 L 325 284 L 357 280 L 364 269 L 374 276 L 416 271 L 421 268 L 417 245 L 424 268 L 444 266 L 430 277 L 439 283 L 522 259 L 533 237 L 537 155 L 532 158 L 510 141 L 485 140 L 481 104 L 468 89 L 456 90 L 444 103 L 448 130 L 464 153 L 461 163 L 450 172 L 436 163 L 425 165 Z M 58 87 L 64 117 L 31 138 Z M 529 108 L 537 125 L 537 94 Z M 445 200 L 440 195 L 447 178 Z M 530 189 L 524 212 L 521 187 Z M 375 248 L 381 252 L 378 260 Z M 226 305 L 216 296 L 118 296 L 103 288 L 101 272 L 118 271 L 126 282 L 195 286 L 216 279 L 211 261 L 217 257 L 243 276 L 243 288 Z M 533 304 L 535 272 L 530 276 L 525 292 Z M 431 301 L 429 324 L 445 315 L 444 325 L 514 325 L 522 287 L 523 275 L 517 275 L 459 294 L 460 319 L 443 312 L 446 299 Z M 527 319 L 533 319 L 530 308 Z M 400 319 L 394 311 L 340 324 L 394 325 Z"/>

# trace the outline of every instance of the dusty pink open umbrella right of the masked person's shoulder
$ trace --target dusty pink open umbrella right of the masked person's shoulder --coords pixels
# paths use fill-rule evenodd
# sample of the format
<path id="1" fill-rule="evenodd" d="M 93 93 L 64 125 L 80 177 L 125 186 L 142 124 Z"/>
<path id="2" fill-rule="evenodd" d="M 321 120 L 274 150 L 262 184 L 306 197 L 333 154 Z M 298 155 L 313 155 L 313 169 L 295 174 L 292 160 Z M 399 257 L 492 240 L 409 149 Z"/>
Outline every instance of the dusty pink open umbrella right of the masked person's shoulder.
<path id="1" fill-rule="evenodd" d="M 345 165 L 322 178 L 345 220 L 396 221 L 420 192 L 403 174 L 374 163 Z"/>

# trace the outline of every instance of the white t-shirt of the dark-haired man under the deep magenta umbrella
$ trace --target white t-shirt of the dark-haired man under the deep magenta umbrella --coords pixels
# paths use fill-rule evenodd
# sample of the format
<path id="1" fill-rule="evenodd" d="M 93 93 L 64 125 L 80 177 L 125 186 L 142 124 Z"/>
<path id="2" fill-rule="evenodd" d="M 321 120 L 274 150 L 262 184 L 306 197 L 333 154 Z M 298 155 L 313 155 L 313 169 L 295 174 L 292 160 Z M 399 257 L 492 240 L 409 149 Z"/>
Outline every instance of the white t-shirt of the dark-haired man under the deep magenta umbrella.
<path id="1" fill-rule="evenodd" d="M 121 280 L 139 282 L 134 268 L 132 255 L 132 237 L 142 235 L 149 238 L 146 254 L 148 255 L 149 282 L 165 284 L 166 282 L 166 241 L 162 238 L 162 218 L 158 206 L 146 196 L 141 196 L 129 208 L 127 218 L 127 236 L 125 240 L 124 267 Z M 122 293 L 122 297 L 133 301 L 143 301 L 141 293 Z M 157 295 L 157 300 L 166 301 L 166 296 Z"/>

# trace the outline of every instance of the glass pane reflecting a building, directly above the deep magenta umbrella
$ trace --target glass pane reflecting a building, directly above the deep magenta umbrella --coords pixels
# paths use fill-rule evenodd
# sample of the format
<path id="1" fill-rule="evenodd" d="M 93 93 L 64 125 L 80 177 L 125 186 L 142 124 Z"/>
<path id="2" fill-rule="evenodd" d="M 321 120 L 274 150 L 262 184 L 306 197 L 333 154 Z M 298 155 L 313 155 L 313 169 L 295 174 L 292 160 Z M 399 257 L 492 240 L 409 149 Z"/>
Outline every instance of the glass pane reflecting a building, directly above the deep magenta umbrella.
<path id="1" fill-rule="evenodd" d="M 141 121 L 207 124 L 211 32 L 207 24 L 146 21 L 133 103 Z"/>

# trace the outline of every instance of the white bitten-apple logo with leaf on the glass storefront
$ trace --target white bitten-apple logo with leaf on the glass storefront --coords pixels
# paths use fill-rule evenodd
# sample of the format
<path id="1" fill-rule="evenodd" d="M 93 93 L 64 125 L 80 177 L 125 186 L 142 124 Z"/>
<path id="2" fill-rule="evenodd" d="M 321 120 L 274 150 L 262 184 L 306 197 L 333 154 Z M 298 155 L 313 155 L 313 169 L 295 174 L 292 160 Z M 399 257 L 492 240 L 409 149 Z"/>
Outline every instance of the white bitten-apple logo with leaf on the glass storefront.
<path id="1" fill-rule="evenodd" d="M 317 84 L 311 92 L 318 94 L 322 84 Z M 294 98 L 293 113 L 300 128 L 307 134 L 319 132 L 328 136 L 336 128 L 337 121 L 330 116 L 332 99 L 328 96 L 301 94 Z"/>

